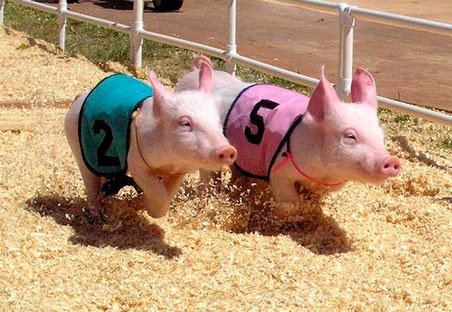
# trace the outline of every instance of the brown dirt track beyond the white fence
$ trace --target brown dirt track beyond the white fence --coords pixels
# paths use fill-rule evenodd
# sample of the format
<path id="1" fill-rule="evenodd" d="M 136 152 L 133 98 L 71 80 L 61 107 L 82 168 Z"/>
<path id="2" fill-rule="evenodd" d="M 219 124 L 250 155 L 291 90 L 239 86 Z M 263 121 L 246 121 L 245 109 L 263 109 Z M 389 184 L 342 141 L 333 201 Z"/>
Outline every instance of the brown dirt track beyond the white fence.
<path id="1" fill-rule="evenodd" d="M 361 7 L 452 23 L 452 5 L 435 1 L 348 1 Z M 158 13 L 148 4 L 145 28 L 224 48 L 229 1 L 185 1 L 180 12 Z M 76 12 L 129 24 L 132 3 L 87 1 L 71 4 Z M 238 1 L 238 52 L 309 76 L 326 64 L 335 80 L 337 26 L 335 15 L 297 7 L 296 2 Z M 355 65 L 369 69 L 379 94 L 411 103 L 452 110 L 452 37 L 358 21 Z"/>

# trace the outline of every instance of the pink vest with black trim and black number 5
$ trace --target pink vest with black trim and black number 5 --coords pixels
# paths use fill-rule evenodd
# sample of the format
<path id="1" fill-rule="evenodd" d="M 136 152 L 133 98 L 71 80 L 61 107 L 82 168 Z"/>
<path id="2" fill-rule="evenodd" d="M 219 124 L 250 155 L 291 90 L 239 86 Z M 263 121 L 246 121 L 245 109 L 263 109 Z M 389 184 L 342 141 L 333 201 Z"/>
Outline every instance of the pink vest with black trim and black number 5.
<path id="1" fill-rule="evenodd" d="M 236 167 L 245 175 L 268 180 L 280 151 L 308 108 L 309 97 L 281 87 L 256 84 L 234 100 L 224 134 L 237 149 Z"/>

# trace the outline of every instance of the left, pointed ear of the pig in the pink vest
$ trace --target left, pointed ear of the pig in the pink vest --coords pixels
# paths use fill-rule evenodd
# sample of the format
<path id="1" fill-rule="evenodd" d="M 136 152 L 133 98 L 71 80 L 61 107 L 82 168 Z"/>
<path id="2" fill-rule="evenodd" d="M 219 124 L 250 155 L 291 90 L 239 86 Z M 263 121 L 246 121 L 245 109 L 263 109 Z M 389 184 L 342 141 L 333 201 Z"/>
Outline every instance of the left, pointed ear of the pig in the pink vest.
<path id="1" fill-rule="evenodd" d="M 325 77 L 325 65 L 322 66 L 320 82 L 312 92 L 309 100 L 308 113 L 316 120 L 321 121 L 325 115 L 340 103 L 331 83 Z"/>

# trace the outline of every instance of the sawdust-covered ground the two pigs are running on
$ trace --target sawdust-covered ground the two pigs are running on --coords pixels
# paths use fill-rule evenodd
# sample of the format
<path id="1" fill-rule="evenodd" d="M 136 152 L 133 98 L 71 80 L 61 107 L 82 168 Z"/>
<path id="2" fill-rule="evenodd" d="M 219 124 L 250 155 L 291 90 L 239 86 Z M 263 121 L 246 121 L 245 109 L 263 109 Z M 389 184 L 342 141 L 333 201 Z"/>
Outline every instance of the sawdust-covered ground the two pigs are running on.
<path id="1" fill-rule="evenodd" d="M 193 176 L 165 218 L 136 212 L 125 190 L 89 224 L 52 103 L 109 73 L 20 33 L 0 40 L 1 310 L 451 310 L 450 129 L 382 112 L 403 172 L 306 200 L 298 222 L 227 192 L 198 197 Z"/>

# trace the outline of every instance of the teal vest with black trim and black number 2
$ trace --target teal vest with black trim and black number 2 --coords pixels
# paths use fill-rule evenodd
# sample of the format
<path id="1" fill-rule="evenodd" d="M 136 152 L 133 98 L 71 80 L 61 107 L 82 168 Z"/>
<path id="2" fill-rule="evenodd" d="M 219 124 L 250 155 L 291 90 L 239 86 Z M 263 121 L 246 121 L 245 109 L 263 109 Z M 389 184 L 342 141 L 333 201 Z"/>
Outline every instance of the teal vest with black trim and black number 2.
<path id="1" fill-rule="evenodd" d="M 79 116 L 79 140 L 86 166 L 97 176 L 126 173 L 132 113 L 153 90 L 123 74 L 105 78 L 88 94 Z"/>

